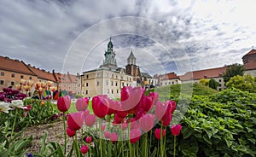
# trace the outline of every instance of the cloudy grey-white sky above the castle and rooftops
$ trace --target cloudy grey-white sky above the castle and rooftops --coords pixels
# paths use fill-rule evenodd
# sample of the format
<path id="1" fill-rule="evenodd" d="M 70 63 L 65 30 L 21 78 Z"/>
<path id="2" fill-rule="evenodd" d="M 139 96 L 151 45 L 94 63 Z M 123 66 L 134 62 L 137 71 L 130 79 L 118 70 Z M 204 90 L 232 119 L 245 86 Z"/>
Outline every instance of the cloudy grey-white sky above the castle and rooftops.
<path id="1" fill-rule="evenodd" d="M 255 1 L 2 0 L 0 55 L 82 73 L 112 37 L 119 67 L 131 49 L 150 74 L 242 63 L 256 47 Z"/>

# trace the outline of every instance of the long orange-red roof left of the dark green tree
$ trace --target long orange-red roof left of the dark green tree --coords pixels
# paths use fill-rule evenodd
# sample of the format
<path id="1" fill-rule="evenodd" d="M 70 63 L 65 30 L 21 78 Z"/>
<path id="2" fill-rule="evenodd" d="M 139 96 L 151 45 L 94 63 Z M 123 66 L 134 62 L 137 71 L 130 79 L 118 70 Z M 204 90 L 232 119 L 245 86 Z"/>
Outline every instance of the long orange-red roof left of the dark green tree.
<path id="1" fill-rule="evenodd" d="M 183 81 L 201 78 L 218 78 L 226 72 L 227 68 L 228 66 L 188 72 L 184 75 L 179 76 L 179 78 Z"/>

